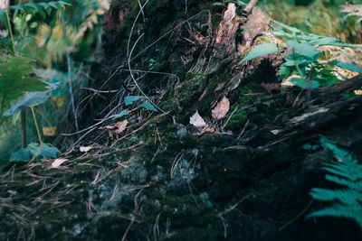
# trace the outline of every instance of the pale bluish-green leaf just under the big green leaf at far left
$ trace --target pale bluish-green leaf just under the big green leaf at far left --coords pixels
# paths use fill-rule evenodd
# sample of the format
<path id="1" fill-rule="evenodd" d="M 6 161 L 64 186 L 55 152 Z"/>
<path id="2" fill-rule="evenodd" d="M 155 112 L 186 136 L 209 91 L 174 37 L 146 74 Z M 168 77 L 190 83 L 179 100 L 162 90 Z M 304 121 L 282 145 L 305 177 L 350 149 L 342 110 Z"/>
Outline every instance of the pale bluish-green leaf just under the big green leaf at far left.
<path id="1" fill-rule="evenodd" d="M 10 107 L 4 116 L 13 116 L 25 107 L 34 107 L 43 104 L 48 99 L 49 91 L 30 92 L 27 96 L 23 97 L 13 107 Z"/>

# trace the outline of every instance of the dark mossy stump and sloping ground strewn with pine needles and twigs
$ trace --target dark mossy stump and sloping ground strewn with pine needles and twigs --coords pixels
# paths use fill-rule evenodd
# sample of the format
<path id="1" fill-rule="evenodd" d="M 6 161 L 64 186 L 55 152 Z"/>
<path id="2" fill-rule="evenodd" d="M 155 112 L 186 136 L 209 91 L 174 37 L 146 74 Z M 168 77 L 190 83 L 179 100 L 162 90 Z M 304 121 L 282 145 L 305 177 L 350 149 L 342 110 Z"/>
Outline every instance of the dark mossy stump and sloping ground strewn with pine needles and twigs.
<path id="1" fill-rule="evenodd" d="M 323 206 L 310 190 L 330 185 L 320 167 L 332 156 L 321 137 L 362 160 L 362 97 L 345 97 L 361 87 L 362 76 L 310 97 L 299 88 L 283 90 L 281 55 L 237 65 L 245 49 L 235 42 L 234 25 L 252 28 L 262 13 L 254 11 L 252 23 L 234 9 L 210 13 L 210 3 L 189 2 L 196 14 L 184 22 L 181 0 L 153 2 L 145 12 L 157 16 L 142 23 L 131 1 L 112 5 L 91 84 L 122 91 L 92 99 L 82 125 L 92 117 L 104 121 L 78 135 L 58 163 L 5 167 L 1 240 L 360 240 L 352 220 L 305 217 Z M 145 36 L 132 33 L 132 23 Z M 190 27 L 197 23 L 200 34 Z M 245 37 L 248 48 L 261 41 Z M 151 47 L 142 58 L 123 64 L 144 46 Z M 152 71 L 140 71 L 145 65 Z M 157 112 L 135 101 L 130 117 L 111 118 L 125 108 L 119 99 L 142 92 L 148 97 L 141 101 Z M 223 105 L 230 111 L 217 116 Z M 190 123 L 196 110 L 205 125 Z M 81 145 L 91 148 L 81 152 Z"/>

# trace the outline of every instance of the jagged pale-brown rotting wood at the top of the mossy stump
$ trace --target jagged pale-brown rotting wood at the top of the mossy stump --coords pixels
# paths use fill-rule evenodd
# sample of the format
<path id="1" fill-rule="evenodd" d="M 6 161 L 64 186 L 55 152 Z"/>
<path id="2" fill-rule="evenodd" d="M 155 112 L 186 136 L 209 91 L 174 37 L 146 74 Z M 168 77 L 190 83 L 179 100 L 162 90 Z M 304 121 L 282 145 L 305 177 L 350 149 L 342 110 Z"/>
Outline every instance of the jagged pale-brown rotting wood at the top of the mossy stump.
<path id="1" fill-rule="evenodd" d="M 258 66 L 262 60 L 267 60 L 273 68 L 277 68 L 282 63 L 282 56 L 266 56 L 260 60 L 246 62 L 239 65 L 239 61 L 244 57 L 245 52 L 252 48 L 255 40 L 261 35 L 270 35 L 271 28 L 269 27 L 270 20 L 263 14 L 262 10 L 255 7 L 257 1 L 251 1 L 244 9 L 244 16 L 236 14 L 236 5 L 230 3 L 227 10 L 224 12 L 224 18 L 219 23 L 214 36 L 213 54 L 205 63 L 209 64 L 208 74 L 212 76 L 214 73 L 221 70 L 232 73 L 230 79 L 224 79 L 217 88 L 206 87 L 203 94 L 198 98 L 198 101 L 203 101 L 207 92 L 214 91 L 214 101 L 210 107 L 214 107 L 223 96 L 230 95 L 233 90 L 238 88 L 243 79 L 246 79 L 258 70 Z M 259 44 L 259 43 L 258 43 Z M 224 66 L 222 61 L 228 60 Z M 205 68 L 204 68 L 205 70 Z"/>

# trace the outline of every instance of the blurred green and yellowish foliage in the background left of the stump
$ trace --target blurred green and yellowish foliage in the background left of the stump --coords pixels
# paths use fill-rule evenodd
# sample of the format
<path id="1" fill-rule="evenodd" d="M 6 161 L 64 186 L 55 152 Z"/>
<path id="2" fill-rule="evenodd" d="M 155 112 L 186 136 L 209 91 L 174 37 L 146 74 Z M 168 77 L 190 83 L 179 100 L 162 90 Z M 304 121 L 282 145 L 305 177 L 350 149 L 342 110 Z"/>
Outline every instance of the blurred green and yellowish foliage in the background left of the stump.
<path id="1" fill-rule="evenodd" d="M 68 0 L 63 1 L 65 7 L 62 7 L 54 2 L 20 1 L 21 6 L 13 5 L 10 9 L 13 10 L 11 18 L 17 55 L 26 56 L 39 78 L 57 86 L 43 105 L 35 107 L 35 114 L 41 129 L 58 127 L 55 135 L 44 137 L 44 141 L 61 149 L 69 144 L 64 143 L 61 133 L 75 130 L 74 117 L 67 104 L 71 103 L 67 54 L 70 54 L 74 99 L 81 99 L 80 88 L 87 85 L 88 66 L 95 60 L 92 56 L 100 47 L 100 23 L 109 3 L 107 0 Z M 46 5 L 54 7 L 44 7 Z M 6 24 L 4 10 L 0 11 L 0 24 Z M 0 64 L 5 64 L 11 54 L 9 34 L 0 35 Z M 20 114 L 4 121 L 0 125 L 0 160 L 8 160 L 10 154 L 20 148 L 21 139 Z M 28 143 L 36 142 L 30 112 L 26 125 Z"/>

